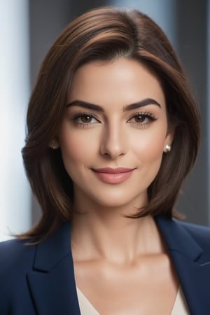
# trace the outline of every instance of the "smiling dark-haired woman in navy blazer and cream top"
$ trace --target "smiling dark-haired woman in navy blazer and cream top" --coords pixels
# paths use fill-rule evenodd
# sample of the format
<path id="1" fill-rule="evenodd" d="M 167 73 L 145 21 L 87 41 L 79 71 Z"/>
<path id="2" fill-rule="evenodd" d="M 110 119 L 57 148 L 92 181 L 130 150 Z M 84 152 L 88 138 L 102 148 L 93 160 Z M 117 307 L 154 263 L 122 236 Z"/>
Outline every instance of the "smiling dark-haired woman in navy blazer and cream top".
<path id="1" fill-rule="evenodd" d="M 73 20 L 27 127 L 43 215 L 1 244 L 0 314 L 209 315 L 209 229 L 174 220 L 200 116 L 158 25 L 118 8 Z"/>

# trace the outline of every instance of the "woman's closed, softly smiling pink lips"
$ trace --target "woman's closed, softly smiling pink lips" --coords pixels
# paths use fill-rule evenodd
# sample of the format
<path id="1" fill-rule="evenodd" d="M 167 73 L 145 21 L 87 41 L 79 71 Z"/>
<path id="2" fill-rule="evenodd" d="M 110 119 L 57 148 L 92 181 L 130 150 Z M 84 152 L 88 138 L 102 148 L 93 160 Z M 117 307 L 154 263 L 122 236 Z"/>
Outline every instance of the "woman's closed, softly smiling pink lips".
<path id="1" fill-rule="evenodd" d="M 92 169 L 94 174 L 105 183 L 123 183 L 126 179 L 128 179 L 131 175 L 134 169 L 127 169 L 124 167 L 118 167 L 116 169 L 112 168 L 104 168 L 104 169 Z"/>

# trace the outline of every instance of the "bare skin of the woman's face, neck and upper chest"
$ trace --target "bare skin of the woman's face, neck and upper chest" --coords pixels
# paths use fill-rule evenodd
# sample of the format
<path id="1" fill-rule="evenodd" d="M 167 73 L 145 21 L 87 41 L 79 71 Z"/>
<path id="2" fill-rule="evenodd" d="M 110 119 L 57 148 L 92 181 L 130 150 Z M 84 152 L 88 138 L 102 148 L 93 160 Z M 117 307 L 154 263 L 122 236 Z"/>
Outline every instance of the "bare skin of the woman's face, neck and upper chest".
<path id="1" fill-rule="evenodd" d="M 151 216 L 125 217 L 147 204 L 172 139 L 162 87 L 143 64 L 120 58 L 76 71 L 55 141 L 73 181 L 76 284 L 102 315 L 172 311 L 178 282 L 160 232 Z M 110 183 L 97 176 L 102 167 L 132 171 Z"/>

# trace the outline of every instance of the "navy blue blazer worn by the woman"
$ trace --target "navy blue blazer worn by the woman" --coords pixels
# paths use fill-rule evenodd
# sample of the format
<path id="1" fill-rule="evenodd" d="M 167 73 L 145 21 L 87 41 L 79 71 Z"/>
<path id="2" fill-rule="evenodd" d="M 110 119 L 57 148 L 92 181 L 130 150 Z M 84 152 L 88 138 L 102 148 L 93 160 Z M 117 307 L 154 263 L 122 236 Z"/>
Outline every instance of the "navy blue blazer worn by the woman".
<path id="1" fill-rule="evenodd" d="M 191 315 L 210 314 L 210 229 L 157 216 Z M 0 243 L 1 315 L 80 315 L 70 225 L 36 246 Z"/>

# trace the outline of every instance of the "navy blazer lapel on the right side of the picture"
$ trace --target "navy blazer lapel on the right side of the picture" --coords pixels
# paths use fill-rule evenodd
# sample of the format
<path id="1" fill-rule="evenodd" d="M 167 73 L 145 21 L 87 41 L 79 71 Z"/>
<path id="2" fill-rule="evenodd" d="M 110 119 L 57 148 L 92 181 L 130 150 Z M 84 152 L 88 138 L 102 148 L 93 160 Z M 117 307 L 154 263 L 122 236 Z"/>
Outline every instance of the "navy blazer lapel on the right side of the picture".
<path id="1" fill-rule="evenodd" d="M 179 223 L 163 216 L 155 221 L 167 244 L 191 315 L 210 314 L 210 261 Z"/>

